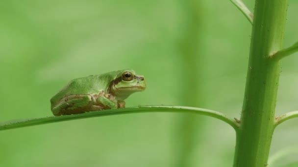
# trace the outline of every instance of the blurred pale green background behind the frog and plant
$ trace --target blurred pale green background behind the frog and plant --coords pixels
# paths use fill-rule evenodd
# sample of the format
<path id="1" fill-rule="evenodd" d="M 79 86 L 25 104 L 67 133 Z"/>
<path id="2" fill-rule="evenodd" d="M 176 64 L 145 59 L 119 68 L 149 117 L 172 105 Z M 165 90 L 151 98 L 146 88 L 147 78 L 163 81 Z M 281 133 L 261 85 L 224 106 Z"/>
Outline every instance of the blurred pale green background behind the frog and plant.
<path id="1" fill-rule="evenodd" d="M 297 9 L 290 0 L 284 46 L 298 40 Z M 71 79 L 125 68 L 148 84 L 126 107 L 239 118 L 250 31 L 229 0 L 2 0 L 0 122 L 51 116 Z M 282 61 L 277 114 L 298 109 L 297 61 Z M 274 167 L 297 161 L 297 140 L 297 120 L 276 129 L 271 156 L 292 153 Z M 209 117 L 130 114 L 1 131 L 0 167 L 230 167 L 234 146 L 233 129 Z"/>

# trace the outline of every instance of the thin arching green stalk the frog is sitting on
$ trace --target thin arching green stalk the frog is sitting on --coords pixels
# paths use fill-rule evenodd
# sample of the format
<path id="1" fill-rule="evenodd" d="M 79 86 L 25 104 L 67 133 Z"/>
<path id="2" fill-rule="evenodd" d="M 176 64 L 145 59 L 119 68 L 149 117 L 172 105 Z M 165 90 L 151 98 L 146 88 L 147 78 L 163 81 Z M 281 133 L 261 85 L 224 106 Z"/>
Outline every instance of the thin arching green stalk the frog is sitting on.
<path id="1" fill-rule="evenodd" d="M 217 118 L 231 125 L 236 131 L 238 130 L 238 123 L 233 119 L 226 117 L 224 114 L 204 108 L 196 107 L 186 107 L 186 106 L 166 106 L 166 105 L 155 105 L 155 106 L 139 106 L 130 108 L 119 108 L 119 109 L 109 109 L 102 111 L 92 111 L 82 114 L 74 115 L 64 115 L 57 117 L 44 117 L 36 119 L 28 119 L 25 121 L 15 121 L 0 125 L 0 130 L 13 129 L 18 127 L 32 126 L 32 125 L 42 125 L 49 123 L 56 123 L 62 121 L 70 121 L 84 118 L 92 117 L 102 117 L 108 115 L 119 115 L 119 114 L 129 114 L 129 113 L 143 113 L 143 112 L 178 112 L 178 113 L 193 113 L 199 115 L 206 115 L 210 117 Z"/>

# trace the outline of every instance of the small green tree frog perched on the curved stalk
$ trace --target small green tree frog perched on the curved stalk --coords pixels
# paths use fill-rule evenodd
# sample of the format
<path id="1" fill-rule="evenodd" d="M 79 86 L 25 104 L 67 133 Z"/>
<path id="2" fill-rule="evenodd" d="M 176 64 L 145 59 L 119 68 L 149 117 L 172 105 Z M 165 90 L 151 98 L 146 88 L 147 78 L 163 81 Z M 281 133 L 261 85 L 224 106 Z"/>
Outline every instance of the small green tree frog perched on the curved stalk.
<path id="1" fill-rule="evenodd" d="M 133 70 L 77 78 L 51 98 L 51 110 L 58 116 L 124 108 L 124 100 L 130 94 L 145 88 L 144 77 L 136 75 Z"/>

